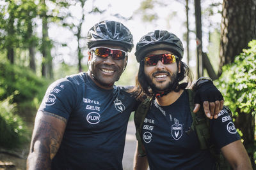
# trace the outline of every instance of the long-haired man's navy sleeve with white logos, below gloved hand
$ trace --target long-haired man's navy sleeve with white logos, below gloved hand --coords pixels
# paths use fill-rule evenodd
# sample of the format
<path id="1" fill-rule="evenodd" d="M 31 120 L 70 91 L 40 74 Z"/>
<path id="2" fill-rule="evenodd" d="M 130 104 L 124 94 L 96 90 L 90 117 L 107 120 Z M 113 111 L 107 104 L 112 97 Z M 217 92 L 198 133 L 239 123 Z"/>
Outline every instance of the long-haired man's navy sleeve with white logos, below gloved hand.
<path id="1" fill-rule="evenodd" d="M 218 148 L 222 148 L 241 139 L 228 111 L 223 108 L 217 119 L 210 122 L 212 141 Z"/>

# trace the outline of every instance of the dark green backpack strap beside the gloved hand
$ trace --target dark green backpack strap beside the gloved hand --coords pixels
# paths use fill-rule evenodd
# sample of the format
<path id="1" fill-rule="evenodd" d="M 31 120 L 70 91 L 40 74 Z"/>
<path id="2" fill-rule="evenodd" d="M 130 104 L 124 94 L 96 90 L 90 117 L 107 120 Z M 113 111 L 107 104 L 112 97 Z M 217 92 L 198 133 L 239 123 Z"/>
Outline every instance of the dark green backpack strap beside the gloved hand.
<path id="1" fill-rule="evenodd" d="M 201 150 L 211 148 L 212 145 L 209 143 L 209 140 L 210 140 L 209 118 L 205 116 L 202 106 L 200 107 L 200 110 L 198 112 L 193 113 L 193 110 L 195 107 L 195 103 L 194 103 L 195 92 L 190 89 L 186 89 L 186 91 L 188 92 L 190 113 L 193 119 L 191 129 L 193 131 L 196 131 Z"/>

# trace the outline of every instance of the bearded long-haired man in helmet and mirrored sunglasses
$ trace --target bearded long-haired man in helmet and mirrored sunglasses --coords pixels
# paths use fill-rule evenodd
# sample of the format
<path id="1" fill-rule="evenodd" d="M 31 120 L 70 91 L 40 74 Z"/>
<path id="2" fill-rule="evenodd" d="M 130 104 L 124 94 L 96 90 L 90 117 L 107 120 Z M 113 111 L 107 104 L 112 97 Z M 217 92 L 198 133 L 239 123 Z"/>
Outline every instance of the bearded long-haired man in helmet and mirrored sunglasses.
<path id="1" fill-rule="evenodd" d="M 180 39 L 163 30 L 149 32 L 136 45 L 135 55 L 140 62 L 136 88 L 138 94 L 145 93 L 151 98 L 134 115 L 138 139 L 134 169 L 147 169 L 148 165 L 152 170 L 218 169 L 210 149 L 200 149 L 197 131 L 191 129 L 191 91 L 186 89 L 191 73 L 181 61 L 183 51 Z M 148 110 L 139 111 L 145 106 Z M 212 143 L 233 169 L 252 169 L 226 108 L 218 118 L 209 120 L 209 130 Z"/>

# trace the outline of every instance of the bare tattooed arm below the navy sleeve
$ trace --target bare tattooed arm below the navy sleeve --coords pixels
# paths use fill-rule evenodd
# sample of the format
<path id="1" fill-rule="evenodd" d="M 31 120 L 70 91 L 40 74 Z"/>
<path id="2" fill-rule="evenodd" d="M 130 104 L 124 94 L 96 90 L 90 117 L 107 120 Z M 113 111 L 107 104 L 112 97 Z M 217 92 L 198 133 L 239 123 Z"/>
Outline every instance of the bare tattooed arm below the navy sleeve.
<path id="1" fill-rule="evenodd" d="M 60 147 L 67 120 L 38 111 L 27 159 L 27 169 L 51 169 L 51 160 Z"/>

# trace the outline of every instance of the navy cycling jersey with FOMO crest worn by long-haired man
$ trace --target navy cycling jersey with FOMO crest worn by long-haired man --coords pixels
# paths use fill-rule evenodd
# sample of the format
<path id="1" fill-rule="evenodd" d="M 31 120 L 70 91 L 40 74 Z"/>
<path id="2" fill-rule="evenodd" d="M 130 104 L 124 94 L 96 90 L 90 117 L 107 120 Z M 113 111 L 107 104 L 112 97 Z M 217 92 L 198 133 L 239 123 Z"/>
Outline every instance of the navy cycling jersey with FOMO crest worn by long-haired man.
<path id="1" fill-rule="evenodd" d="M 192 122 L 188 92 L 184 91 L 170 106 L 152 102 L 141 133 L 150 170 L 216 168 L 209 150 L 200 150 L 195 131 L 188 133 Z M 226 110 L 210 120 L 210 133 L 218 148 L 240 139 Z"/>

